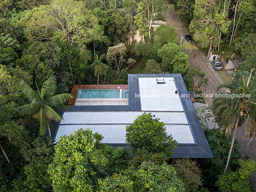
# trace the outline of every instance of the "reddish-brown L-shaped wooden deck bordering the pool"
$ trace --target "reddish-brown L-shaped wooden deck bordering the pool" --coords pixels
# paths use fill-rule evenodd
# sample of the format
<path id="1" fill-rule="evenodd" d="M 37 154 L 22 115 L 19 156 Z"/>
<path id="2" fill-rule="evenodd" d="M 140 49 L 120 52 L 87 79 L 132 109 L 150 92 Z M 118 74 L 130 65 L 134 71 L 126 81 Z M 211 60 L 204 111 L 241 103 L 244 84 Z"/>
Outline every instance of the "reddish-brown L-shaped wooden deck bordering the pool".
<path id="1" fill-rule="evenodd" d="M 118 85 L 73 85 L 71 94 L 74 98 L 68 101 L 68 106 L 75 106 L 78 89 L 117 89 Z M 128 89 L 128 85 L 120 85 L 120 89 Z"/>

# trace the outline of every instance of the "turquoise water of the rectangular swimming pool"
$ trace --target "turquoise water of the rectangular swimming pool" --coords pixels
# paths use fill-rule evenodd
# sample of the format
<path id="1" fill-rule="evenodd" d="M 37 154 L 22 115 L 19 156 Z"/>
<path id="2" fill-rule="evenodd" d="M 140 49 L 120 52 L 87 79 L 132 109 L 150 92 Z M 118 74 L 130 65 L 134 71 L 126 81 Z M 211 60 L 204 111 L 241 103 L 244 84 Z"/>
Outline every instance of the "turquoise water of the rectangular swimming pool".
<path id="1" fill-rule="evenodd" d="M 79 89 L 76 98 L 119 98 L 119 96 L 117 89 Z M 122 90 L 122 98 L 128 98 L 128 89 Z"/>

